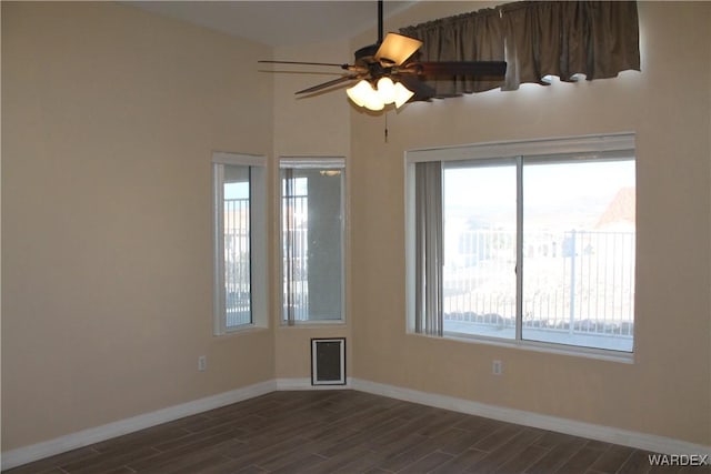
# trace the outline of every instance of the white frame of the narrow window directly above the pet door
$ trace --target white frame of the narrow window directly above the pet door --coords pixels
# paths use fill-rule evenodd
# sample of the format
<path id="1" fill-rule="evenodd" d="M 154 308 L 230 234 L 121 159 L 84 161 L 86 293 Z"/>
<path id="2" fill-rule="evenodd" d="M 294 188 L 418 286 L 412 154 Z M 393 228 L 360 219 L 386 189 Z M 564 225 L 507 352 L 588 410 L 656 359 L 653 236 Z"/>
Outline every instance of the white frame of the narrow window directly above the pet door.
<path id="1" fill-rule="evenodd" d="M 341 225 L 340 225 L 340 248 L 341 248 L 341 297 L 340 297 L 340 317 L 339 319 L 330 319 L 330 320 L 304 320 L 304 321 L 292 321 L 284 315 L 284 271 L 283 271 L 283 206 L 282 206 L 282 178 L 281 170 L 292 168 L 292 169 L 301 169 L 301 170 L 340 170 L 341 171 L 341 192 L 340 192 L 340 212 L 341 212 Z M 346 262 L 347 262 L 347 235 L 346 230 L 348 229 L 348 213 L 347 213 L 347 183 L 348 183 L 348 172 L 346 165 L 346 158 L 343 157 L 289 157 L 283 155 L 278 160 L 278 219 L 279 219 L 279 250 L 278 250 L 278 262 L 279 262 L 279 322 L 281 326 L 313 326 L 313 325 L 342 325 L 347 322 L 347 304 L 346 304 L 346 289 L 347 289 L 347 272 L 346 272 Z"/>

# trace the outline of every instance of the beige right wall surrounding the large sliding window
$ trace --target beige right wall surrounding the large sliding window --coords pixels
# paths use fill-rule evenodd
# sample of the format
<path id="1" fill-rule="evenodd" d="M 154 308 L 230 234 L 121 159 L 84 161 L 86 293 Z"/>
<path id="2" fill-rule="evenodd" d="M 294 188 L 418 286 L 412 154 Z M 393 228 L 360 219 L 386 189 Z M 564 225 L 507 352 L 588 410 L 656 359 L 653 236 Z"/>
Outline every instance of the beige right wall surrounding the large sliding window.
<path id="1" fill-rule="evenodd" d="M 438 18 L 421 3 L 388 29 Z M 711 444 L 711 3 L 642 2 L 642 73 L 352 112 L 354 376 Z M 638 143 L 633 364 L 407 335 L 403 151 L 633 131 Z M 491 375 L 493 359 L 504 374 Z"/>

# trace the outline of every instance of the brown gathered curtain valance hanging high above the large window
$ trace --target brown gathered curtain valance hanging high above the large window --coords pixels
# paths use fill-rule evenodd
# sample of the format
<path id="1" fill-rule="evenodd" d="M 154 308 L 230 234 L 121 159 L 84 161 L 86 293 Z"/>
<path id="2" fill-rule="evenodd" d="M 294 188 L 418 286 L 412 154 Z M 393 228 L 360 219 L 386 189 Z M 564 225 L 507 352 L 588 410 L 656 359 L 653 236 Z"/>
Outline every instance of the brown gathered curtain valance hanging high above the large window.
<path id="1" fill-rule="evenodd" d="M 428 80 L 437 97 L 640 70 L 634 1 L 520 1 L 400 30 L 424 42 L 421 61 L 507 61 L 504 80 Z"/>

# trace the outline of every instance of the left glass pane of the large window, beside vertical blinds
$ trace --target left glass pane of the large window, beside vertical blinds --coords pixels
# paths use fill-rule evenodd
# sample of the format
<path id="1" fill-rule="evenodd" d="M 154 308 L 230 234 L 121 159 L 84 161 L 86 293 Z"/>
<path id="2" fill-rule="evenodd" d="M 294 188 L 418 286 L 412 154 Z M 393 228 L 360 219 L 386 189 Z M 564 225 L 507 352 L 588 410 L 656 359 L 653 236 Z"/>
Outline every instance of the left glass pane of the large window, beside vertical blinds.
<path id="1" fill-rule="evenodd" d="M 443 330 L 515 337 L 515 164 L 443 170 Z"/>

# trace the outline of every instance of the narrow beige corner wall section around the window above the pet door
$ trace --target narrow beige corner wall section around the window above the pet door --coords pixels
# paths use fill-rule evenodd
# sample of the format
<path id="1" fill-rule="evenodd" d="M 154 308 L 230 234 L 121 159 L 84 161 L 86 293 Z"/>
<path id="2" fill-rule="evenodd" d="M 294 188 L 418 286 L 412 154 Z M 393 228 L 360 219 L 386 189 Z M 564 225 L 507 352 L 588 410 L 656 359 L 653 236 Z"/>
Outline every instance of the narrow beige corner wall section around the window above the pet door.
<path id="1" fill-rule="evenodd" d="M 347 41 L 300 44 L 274 48 L 273 59 L 282 61 L 318 61 L 342 63 L 351 58 Z M 312 85 L 338 78 L 340 68 L 316 68 L 309 65 L 274 65 L 274 160 L 279 157 L 342 157 L 347 162 L 347 188 L 350 170 L 350 105 L 342 92 L 321 92 L 311 95 L 294 95 Z M 291 72 L 286 72 L 291 71 Z M 277 165 L 274 165 L 277 172 Z M 274 203 L 274 215 L 279 215 Z M 347 202 L 347 213 L 349 203 Z M 349 220 L 347 218 L 346 224 Z M 273 254 L 278 255 L 279 242 L 274 241 Z M 347 245 L 347 262 L 349 260 Z M 350 279 L 346 266 L 346 282 Z M 274 289 L 280 289 L 278 272 L 272 279 Z M 308 379 L 311 376 L 311 337 L 347 339 L 347 375 L 351 374 L 350 301 L 346 300 L 346 323 L 319 326 L 288 327 L 276 319 L 276 376 L 278 379 Z M 273 307 L 280 307 L 279 292 L 273 292 Z"/>

